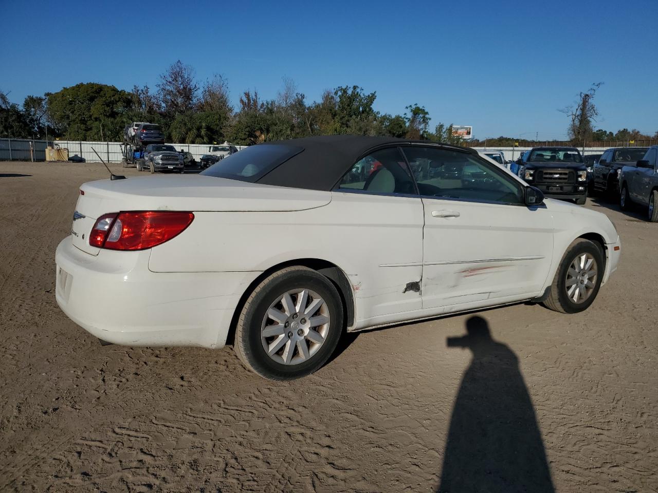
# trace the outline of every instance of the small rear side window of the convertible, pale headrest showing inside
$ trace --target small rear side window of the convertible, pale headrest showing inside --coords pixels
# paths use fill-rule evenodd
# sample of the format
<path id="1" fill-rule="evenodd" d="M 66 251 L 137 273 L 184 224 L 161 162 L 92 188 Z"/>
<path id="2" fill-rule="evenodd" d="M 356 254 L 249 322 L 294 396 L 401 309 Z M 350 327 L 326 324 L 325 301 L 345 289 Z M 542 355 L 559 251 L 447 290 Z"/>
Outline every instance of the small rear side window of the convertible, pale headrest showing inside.
<path id="1" fill-rule="evenodd" d="M 397 147 L 375 151 L 359 159 L 336 186 L 340 191 L 416 195 L 416 187 Z"/>

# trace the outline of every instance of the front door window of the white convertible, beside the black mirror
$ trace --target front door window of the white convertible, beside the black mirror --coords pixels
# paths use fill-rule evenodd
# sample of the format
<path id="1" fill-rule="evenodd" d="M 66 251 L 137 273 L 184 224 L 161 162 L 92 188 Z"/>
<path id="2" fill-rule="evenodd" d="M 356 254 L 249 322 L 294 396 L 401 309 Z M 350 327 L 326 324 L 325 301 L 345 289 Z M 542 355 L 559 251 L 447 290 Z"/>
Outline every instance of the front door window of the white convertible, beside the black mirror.
<path id="1" fill-rule="evenodd" d="M 494 164 L 470 153 L 403 147 L 420 195 L 524 204 L 524 187 Z"/>

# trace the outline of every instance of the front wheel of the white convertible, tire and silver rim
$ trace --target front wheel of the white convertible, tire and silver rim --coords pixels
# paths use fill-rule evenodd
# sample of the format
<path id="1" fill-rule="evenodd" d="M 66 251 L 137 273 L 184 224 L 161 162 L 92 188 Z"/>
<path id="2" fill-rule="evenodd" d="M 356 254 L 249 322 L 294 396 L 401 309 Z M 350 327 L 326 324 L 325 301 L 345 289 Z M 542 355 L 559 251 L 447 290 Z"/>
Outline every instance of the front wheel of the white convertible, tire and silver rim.
<path id="1" fill-rule="evenodd" d="M 548 298 L 542 304 L 563 314 L 587 310 L 599 293 L 603 266 L 601 248 L 590 240 L 574 240 L 562 257 Z"/>

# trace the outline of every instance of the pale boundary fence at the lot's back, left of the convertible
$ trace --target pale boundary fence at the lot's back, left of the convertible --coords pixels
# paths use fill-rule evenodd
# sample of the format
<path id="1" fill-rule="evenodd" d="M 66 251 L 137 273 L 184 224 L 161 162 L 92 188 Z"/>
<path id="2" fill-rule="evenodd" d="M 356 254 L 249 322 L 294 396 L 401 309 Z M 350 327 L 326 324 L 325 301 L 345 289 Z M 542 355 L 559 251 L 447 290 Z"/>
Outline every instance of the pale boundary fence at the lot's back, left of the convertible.
<path id="1" fill-rule="evenodd" d="M 107 162 L 121 162 L 123 153 L 122 143 L 119 142 L 88 142 L 88 141 L 49 141 L 68 149 L 68 156 L 78 156 L 87 161 L 97 161 L 93 149 Z M 196 160 L 203 154 L 208 154 L 211 144 L 172 144 L 178 151 L 188 151 Z M 93 147 L 93 149 L 92 149 Z M 238 149 L 246 146 L 237 145 Z M 45 161 L 46 142 L 28 139 L 0 139 L 0 161 Z"/>

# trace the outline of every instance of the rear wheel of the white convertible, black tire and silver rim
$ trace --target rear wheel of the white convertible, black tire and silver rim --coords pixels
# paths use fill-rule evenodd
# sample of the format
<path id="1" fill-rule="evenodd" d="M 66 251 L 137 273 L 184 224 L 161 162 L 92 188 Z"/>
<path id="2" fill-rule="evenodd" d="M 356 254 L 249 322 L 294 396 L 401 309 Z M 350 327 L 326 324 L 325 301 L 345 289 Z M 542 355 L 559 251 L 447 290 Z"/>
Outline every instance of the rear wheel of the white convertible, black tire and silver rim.
<path id="1" fill-rule="evenodd" d="M 293 380 L 322 367 L 342 331 L 343 306 L 333 283 L 315 270 L 290 267 L 263 279 L 247 298 L 234 349 L 261 377 Z"/>

